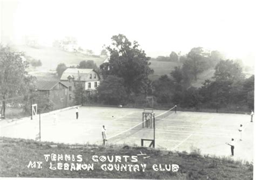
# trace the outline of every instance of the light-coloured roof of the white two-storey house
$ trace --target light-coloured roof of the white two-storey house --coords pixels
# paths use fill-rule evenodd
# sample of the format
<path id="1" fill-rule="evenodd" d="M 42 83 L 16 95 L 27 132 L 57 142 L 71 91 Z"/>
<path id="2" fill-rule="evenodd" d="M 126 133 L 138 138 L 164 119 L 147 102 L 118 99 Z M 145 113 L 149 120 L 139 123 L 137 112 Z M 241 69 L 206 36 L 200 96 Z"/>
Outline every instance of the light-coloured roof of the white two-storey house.
<path id="1" fill-rule="evenodd" d="M 78 81 L 79 80 L 78 79 L 78 74 L 79 74 L 80 80 L 85 81 L 87 79 L 88 75 L 91 74 L 92 72 L 95 72 L 99 77 L 99 74 L 93 69 L 67 68 L 63 72 L 62 77 L 60 78 L 60 80 L 68 80 L 68 77 L 70 76 L 70 77 L 73 77 L 74 80 Z"/>

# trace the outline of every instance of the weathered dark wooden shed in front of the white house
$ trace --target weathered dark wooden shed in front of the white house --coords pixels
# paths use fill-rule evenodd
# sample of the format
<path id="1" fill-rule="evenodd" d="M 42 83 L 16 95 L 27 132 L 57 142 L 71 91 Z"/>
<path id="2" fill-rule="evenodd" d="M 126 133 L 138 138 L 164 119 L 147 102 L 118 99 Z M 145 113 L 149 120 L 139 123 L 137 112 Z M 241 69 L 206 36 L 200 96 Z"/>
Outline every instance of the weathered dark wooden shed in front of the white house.
<path id="1" fill-rule="evenodd" d="M 44 92 L 53 103 L 53 109 L 68 107 L 68 87 L 59 81 L 37 81 L 36 89 Z"/>

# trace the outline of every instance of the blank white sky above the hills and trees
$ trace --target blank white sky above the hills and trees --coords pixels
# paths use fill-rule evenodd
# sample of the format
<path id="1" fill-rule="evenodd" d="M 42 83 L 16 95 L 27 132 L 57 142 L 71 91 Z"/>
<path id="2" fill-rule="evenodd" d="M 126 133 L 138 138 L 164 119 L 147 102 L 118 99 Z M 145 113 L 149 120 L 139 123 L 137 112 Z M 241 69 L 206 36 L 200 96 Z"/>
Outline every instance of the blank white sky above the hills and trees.
<path id="1" fill-rule="evenodd" d="M 0 1 L 1 39 L 14 44 L 24 43 L 24 36 L 36 36 L 44 45 L 73 36 L 97 54 L 121 33 L 138 41 L 150 57 L 187 53 L 200 46 L 254 64 L 252 0 Z"/>

